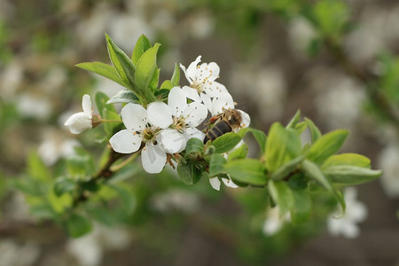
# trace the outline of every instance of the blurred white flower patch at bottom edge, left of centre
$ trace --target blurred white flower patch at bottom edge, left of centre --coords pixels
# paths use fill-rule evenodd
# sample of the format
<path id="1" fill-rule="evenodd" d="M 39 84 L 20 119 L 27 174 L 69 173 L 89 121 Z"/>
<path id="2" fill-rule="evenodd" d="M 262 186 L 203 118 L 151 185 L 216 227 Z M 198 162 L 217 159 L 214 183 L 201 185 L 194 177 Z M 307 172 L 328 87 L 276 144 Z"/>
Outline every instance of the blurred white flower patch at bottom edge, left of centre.
<path id="1" fill-rule="evenodd" d="M 131 236 L 123 228 L 108 228 L 97 223 L 93 231 L 79 238 L 70 239 L 66 251 L 73 255 L 81 266 L 97 266 L 106 250 L 120 250 L 129 246 Z"/>

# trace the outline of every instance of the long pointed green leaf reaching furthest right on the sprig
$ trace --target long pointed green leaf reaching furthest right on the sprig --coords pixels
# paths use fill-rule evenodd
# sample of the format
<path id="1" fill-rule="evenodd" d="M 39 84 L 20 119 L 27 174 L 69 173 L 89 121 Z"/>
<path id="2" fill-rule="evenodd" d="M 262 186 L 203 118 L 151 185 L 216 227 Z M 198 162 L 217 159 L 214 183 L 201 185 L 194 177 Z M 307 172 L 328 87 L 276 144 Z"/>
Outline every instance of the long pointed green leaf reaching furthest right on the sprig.
<path id="1" fill-rule="evenodd" d="M 324 170 L 333 184 L 355 185 L 370 182 L 382 175 L 381 170 L 372 170 L 351 165 L 332 165 Z"/>

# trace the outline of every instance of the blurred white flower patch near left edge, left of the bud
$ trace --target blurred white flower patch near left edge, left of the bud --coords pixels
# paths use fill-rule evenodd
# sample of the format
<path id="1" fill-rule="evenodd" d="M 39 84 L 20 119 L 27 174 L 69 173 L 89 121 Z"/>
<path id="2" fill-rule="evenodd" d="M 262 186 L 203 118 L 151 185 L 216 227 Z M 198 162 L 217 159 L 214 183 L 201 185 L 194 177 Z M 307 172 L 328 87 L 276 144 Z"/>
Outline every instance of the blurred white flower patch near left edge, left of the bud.
<path id="1" fill-rule="evenodd" d="M 28 93 L 20 96 L 17 109 L 22 116 L 38 120 L 46 120 L 51 114 L 51 105 L 46 98 Z"/>

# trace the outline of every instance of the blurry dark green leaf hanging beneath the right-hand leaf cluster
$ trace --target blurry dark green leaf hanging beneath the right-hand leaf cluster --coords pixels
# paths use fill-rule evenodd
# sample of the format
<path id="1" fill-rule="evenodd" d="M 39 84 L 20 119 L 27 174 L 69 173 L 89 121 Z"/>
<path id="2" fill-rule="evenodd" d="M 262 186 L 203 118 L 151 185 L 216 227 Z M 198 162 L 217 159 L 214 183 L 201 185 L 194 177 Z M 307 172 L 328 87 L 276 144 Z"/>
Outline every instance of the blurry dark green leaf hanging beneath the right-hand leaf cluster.
<path id="1" fill-rule="evenodd" d="M 309 221 L 312 211 L 312 201 L 307 190 L 292 190 L 293 208 L 291 209 L 291 221 L 293 224 L 301 224 Z"/>

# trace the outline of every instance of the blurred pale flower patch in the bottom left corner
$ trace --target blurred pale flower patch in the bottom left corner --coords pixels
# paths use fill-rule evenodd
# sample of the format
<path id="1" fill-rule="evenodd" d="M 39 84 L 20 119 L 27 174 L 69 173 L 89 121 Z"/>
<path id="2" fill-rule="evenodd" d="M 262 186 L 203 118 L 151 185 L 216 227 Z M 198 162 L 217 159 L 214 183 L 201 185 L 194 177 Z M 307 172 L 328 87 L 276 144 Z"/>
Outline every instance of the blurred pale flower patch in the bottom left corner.
<path id="1" fill-rule="evenodd" d="M 16 241 L 0 240 L 0 266 L 35 265 L 40 256 L 40 248 L 34 244 L 18 244 Z"/>

